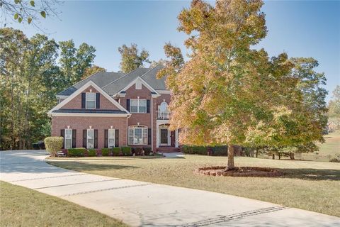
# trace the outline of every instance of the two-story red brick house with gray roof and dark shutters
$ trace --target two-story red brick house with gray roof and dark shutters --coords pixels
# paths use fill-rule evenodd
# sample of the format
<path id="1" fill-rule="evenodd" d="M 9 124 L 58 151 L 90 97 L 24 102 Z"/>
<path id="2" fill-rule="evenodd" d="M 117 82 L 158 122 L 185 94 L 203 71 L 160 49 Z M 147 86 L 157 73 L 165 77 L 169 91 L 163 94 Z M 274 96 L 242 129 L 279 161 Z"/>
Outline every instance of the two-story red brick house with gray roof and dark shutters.
<path id="1" fill-rule="evenodd" d="M 97 72 L 57 94 L 48 114 L 52 136 L 64 137 L 64 148 L 151 147 L 179 150 L 179 131 L 169 130 L 171 92 L 162 66 L 128 73 Z"/>

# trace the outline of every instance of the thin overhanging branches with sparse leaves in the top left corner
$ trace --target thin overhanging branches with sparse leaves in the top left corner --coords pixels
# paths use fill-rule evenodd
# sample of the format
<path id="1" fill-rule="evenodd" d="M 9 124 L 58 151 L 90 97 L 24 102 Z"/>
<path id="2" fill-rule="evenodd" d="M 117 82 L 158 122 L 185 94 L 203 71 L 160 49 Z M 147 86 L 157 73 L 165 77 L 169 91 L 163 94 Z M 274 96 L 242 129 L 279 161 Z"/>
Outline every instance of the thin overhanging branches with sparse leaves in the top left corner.
<path id="1" fill-rule="evenodd" d="M 46 16 L 51 16 L 51 14 L 57 14 L 55 9 L 53 9 L 56 3 L 57 1 L 55 0 L 0 0 L 0 11 L 4 18 L 4 26 L 6 27 L 6 16 L 13 17 L 13 20 L 18 23 L 33 23 L 34 26 L 37 26 L 35 21 L 37 21 L 39 17 L 46 18 Z"/>

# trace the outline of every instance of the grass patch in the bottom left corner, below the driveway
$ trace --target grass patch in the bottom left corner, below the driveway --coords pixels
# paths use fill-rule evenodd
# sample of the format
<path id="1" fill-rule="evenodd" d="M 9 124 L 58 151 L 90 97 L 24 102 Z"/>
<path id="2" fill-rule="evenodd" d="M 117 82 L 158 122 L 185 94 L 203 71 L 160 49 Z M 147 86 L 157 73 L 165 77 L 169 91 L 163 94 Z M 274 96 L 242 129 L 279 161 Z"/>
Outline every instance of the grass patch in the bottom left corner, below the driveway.
<path id="1" fill-rule="evenodd" d="M 0 226 L 127 226 L 69 201 L 0 182 Z"/>

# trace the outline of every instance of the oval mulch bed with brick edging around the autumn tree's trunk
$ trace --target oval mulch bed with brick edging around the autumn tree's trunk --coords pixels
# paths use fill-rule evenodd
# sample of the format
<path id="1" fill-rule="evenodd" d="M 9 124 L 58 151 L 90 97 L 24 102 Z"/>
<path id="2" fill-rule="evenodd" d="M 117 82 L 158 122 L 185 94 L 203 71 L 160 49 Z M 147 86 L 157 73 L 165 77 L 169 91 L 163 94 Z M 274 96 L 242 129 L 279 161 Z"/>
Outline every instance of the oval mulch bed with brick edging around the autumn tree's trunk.
<path id="1" fill-rule="evenodd" d="M 195 170 L 201 175 L 229 176 L 229 177 L 278 177 L 283 172 L 266 167 L 235 167 L 234 170 L 225 170 L 225 166 L 202 167 Z"/>

